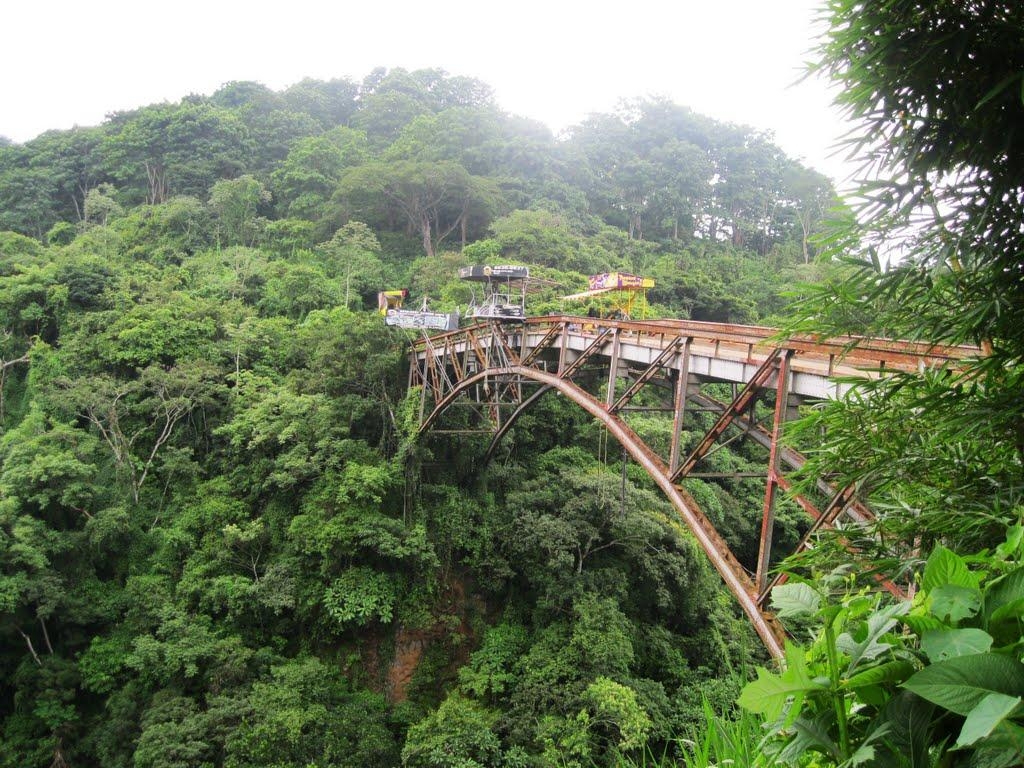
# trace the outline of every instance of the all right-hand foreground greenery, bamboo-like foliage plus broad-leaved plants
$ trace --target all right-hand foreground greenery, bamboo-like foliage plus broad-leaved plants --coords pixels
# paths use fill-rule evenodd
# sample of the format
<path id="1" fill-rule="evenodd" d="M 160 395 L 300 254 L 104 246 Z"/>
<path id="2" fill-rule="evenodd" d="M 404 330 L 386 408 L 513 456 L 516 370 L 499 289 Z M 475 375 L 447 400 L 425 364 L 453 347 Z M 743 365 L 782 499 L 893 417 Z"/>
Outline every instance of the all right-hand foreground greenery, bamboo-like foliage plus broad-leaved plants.
<path id="1" fill-rule="evenodd" d="M 769 735 L 745 765 L 1018 766 L 1024 755 L 1024 9 L 828 3 L 820 71 L 859 122 L 873 176 L 794 330 L 974 344 L 956 371 L 896 374 L 801 424 L 808 477 L 880 511 L 857 545 L 908 599 L 854 586 L 837 542 L 793 567 L 780 614 L 809 622 L 787 668 L 741 697 Z M 887 261 L 889 263 L 887 263 Z M 800 434 L 795 435 L 799 439 Z M 847 539 L 846 543 L 850 540 Z M 926 561 L 923 561 L 925 556 Z M 867 582 L 869 583 L 869 581 Z M 717 726 L 717 723 L 714 724 Z"/>

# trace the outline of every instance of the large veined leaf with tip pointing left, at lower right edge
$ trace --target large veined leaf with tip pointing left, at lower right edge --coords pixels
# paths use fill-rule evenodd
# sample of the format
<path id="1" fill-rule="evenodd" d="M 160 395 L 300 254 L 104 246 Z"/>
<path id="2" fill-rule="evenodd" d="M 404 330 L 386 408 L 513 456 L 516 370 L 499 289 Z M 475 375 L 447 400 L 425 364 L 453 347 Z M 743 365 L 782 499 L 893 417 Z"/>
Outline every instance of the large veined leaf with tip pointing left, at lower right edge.
<path id="1" fill-rule="evenodd" d="M 990 693 L 1024 695 L 1024 665 L 998 653 L 956 656 L 933 664 L 903 686 L 957 715 L 968 715 Z"/>

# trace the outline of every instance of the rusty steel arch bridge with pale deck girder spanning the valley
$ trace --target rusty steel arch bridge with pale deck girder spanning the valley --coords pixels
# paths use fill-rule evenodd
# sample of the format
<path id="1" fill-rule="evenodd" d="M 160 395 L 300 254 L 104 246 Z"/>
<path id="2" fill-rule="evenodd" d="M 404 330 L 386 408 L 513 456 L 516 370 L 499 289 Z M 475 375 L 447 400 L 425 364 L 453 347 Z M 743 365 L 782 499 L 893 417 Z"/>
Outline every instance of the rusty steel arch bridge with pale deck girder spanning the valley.
<path id="1" fill-rule="evenodd" d="M 955 367 L 980 350 L 853 338 L 779 342 L 775 337 L 770 328 L 689 321 L 549 315 L 515 324 L 481 323 L 417 339 L 410 353 L 409 385 L 421 388 L 421 433 L 434 428 L 451 407 L 467 406 L 475 421 L 472 429 L 435 431 L 489 434 L 488 457 L 519 416 L 545 393 L 560 392 L 577 403 L 644 468 L 693 534 L 768 651 L 781 658 L 784 633 L 765 608 L 779 581 L 768 580 L 779 492 L 788 493 L 811 518 L 800 548 L 821 527 L 863 525 L 872 516 L 853 487 L 834 487 L 822 479 L 816 483 L 817 499 L 793 492 L 785 471 L 800 468 L 805 459 L 780 444 L 786 419 L 803 402 L 842 395 L 857 378 Z M 728 385 L 715 390 L 727 390 L 729 396 L 709 394 L 709 384 Z M 637 395 L 651 387 L 662 393 L 658 404 L 637 404 Z M 760 412 L 759 401 L 763 401 Z M 687 410 L 715 417 L 713 426 L 695 441 L 684 439 Z M 671 441 L 664 455 L 630 426 L 630 414 L 638 411 L 671 419 Z M 728 432 L 732 434 L 726 438 Z M 753 573 L 683 486 L 687 478 L 722 476 L 696 469 L 717 446 L 739 437 L 767 451 L 767 466 L 758 475 L 765 479 L 765 492 Z M 883 586 L 899 592 L 895 585 Z"/>

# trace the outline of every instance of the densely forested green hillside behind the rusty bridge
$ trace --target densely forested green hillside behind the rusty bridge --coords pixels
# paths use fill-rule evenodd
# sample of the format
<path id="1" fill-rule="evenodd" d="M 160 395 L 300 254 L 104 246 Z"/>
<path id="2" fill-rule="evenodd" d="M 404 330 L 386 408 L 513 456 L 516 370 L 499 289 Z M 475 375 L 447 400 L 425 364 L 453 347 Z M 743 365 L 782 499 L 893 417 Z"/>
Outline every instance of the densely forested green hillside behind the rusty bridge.
<path id="1" fill-rule="evenodd" d="M 486 471 L 414 439 L 374 295 L 465 304 L 501 259 L 559 284 L 537 312 L 628 269 L 761 321 L 830 199 L 750 129 L 643 102 L 555 140 L 435 71 L 0 146 L 0 765 L 671 752 L 759 653 L 690 537 L 559 398 Z M 751 560 L 758 484 L 691 489 Z"/>

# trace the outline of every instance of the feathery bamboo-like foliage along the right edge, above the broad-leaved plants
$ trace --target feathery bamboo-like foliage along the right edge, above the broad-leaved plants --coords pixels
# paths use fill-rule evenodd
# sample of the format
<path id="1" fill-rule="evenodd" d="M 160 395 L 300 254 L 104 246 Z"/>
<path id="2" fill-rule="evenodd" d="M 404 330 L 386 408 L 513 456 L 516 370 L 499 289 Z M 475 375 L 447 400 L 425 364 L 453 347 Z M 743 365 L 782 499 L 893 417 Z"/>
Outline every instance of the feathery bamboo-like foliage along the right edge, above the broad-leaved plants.
<path id="1" fill-rule="evenodd" d="M 791 325 L 978 352 L 956 375 L 888 376 L 820 409 L 803 425 L 827 435 L 808 469 L 857 483 L 887 511 L 883 536 L 916 540 L 919 553 L 992 547 L 1018 521 L 1024 486 L 1024 11 L 831 6 L 820 69 L 850 86 L 839 100 L 878 175 L 856 225 L 833 234 L 850 271 L 810 291 Z M 921 554 L 872 554 L 890 572 L 921 565 Z"/>

